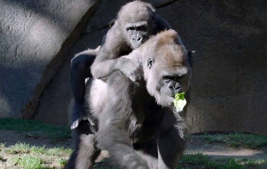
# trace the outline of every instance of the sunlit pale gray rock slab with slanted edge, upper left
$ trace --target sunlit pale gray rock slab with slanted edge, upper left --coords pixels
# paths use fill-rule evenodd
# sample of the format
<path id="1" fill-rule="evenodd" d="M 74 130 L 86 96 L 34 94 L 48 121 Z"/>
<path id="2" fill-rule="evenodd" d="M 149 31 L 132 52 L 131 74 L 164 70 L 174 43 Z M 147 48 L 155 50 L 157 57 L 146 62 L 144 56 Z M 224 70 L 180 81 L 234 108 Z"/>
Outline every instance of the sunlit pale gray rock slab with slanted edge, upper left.
<path id="1" fill-rule="evenodd" d="M 0 0 L 0 117 L 31 117 L 98 0 Z"/>

